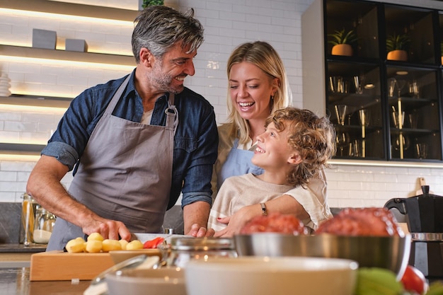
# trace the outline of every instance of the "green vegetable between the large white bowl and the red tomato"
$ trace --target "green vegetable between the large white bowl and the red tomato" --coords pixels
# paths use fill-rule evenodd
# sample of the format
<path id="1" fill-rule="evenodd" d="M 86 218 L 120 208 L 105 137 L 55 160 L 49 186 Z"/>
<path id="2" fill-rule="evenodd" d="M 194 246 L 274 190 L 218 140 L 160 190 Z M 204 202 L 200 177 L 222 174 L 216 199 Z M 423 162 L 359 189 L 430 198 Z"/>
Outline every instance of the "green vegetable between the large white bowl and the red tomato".
<path id="1" fill-rule="evenodd" d="M 403 285 L 396 274 L 378 267 L 362 267 L 357 272 L 355 295 L 399 295 Z"/>

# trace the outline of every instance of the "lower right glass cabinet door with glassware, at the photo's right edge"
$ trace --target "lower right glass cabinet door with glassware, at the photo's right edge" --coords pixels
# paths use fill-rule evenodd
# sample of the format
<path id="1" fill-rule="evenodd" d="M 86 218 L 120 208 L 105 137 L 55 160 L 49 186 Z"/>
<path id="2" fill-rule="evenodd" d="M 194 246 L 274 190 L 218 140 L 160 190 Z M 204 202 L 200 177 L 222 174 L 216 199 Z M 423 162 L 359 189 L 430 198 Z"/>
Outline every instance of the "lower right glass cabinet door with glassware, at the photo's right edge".
<path id="1" fill-rule="evenodd" d="M 441 160 L 437 71 L 387 66 L 391 158 Z"/>

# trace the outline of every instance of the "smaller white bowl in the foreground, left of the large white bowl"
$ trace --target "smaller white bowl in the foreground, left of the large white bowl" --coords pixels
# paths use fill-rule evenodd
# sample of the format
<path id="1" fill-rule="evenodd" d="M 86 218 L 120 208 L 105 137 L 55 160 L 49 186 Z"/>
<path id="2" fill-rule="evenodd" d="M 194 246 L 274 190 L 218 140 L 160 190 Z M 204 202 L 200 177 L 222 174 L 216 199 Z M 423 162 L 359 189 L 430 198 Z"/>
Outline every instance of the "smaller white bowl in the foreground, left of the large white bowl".
<path id="1" fill-rule="evenodd" d="M 106 275 L 109 295 L 186 295 L 183 270 L 164 267 L 122 270 Z"/>

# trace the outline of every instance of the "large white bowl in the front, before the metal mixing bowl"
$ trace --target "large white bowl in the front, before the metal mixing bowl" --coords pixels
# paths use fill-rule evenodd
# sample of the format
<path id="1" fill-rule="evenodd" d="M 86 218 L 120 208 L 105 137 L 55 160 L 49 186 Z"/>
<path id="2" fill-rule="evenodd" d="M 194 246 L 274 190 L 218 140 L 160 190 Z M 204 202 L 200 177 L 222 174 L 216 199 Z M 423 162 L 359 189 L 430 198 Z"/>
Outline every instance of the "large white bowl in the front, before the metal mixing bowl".
<path id="1" fill-rule="evenodd" d="M 335 258 L 242 257 L 191 260 L 188 295 L 352 295 L 358 263 Z"/>

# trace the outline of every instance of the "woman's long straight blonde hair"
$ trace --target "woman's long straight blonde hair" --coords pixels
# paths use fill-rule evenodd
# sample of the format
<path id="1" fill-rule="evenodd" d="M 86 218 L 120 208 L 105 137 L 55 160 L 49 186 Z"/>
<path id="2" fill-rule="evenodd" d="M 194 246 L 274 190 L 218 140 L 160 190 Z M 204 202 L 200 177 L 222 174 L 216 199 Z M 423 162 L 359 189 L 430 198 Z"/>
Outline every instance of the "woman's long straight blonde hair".
<path id="1" fill-rule="evenodd" d="M 258 66 L 270 79 L 277 78 L 279 83 L 277 91 L 271 102 L 271 111 L 279 110 L 292 103 L 292 93 L 289 88 L 289 83 L 287 81 L 286 71 L 284 70 L 282 59 L 280 59 L 279 54 L 275 49 L 263 41 L 246 42 L 242 45 L 236 47 L 234 52 L 232 52 L 231 57 L 228 59 L 227 74 L 229 79 L 229 73 L 234 64 L 239 64 L 241 62 L 249 62 Z M 229 86 L 228 86 L 229 89 Z M 229 137 L 238 137 L 241 144 L 245 144 L 249 141 L 250 127 L 247 120 L 243 119 L 241 115 L 237 112 L 234 105 L 232 105 L 232 100 L 229 95 L 227 99 L 229 115 L 226 120 L 226 124 L 231 124 L 231 129 L 229 130 Z M 265 122 L 263 122 L 263 125 Z"/>

